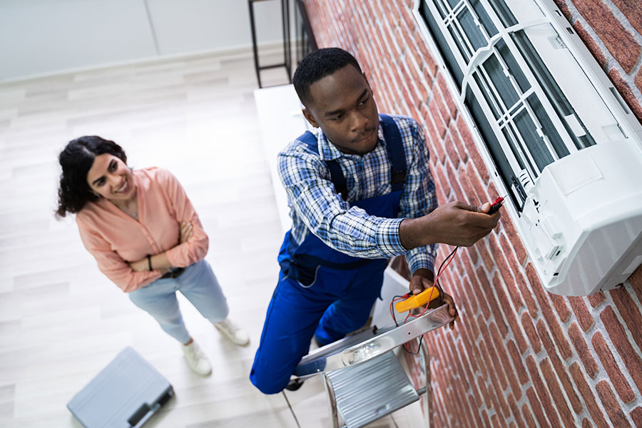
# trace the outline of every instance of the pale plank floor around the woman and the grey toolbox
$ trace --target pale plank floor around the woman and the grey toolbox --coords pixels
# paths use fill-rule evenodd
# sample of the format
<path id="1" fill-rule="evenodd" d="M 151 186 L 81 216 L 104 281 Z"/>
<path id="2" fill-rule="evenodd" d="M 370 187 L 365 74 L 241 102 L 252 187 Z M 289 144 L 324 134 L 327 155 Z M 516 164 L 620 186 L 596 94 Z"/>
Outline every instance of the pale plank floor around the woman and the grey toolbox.
<path id="1" fill-rule="evenodd" d="M 0 85 L 2 427 L 80 427 L 66 402 L 128 345 L 175 388 L 149 427 L 296 427 L 281 394 L 248 380 L 282 238 L 255 88 L 249 51 Z M 231 345 L 179 296 L 210 377 L 190 372 L 178 344 L 98 271 L 73 216 L 54 219 L 56 157 L 83 135 L 120 143 L 135 168 L 168 168 L 195 205 L 231 317 L 252 337 L 250 347 Z M 320 382 L 288 397 L 301 427 L 328 426 Z M 407 424 L 400 412 L 370 426 Z"/>

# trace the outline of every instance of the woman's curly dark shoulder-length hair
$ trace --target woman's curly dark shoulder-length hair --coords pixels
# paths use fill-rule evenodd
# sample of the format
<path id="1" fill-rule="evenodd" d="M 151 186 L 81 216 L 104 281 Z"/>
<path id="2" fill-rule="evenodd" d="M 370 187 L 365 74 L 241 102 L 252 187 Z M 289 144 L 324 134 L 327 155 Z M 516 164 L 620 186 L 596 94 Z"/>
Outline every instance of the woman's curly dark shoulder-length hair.
<path id="1" fill-rule="evenodd" d="M 86 203 L 98 200 L 87 184 L 87 173 L 93 159 L 103 153 L 110 153 L 127 163 L 127 156 L 121 146 L 98 136 L 84 136 L 69 141 L 58 156 L 62 167 L 58 188 L 58 209 L 56 218 L 67 213 L 78 213 Z"/>

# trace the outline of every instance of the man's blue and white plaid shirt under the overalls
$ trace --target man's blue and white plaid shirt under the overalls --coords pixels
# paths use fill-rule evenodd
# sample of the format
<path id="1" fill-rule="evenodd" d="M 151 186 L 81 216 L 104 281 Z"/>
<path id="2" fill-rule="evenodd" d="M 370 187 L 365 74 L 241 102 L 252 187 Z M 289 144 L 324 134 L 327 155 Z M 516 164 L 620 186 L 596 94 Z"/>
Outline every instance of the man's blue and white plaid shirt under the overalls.
<path id="1" fill-rule="evenodd" d="M 399 201 L 399 218 L 368 215 L 353 200 L 373 198 L 392 191 L 390 168 L 382 127 L 379 142 L 363 156 L 342 153 L 320 130 L 315 130 L 319 154 L 295 140 L 279 153 L 278 165 L 287 192 L 292 239 L 302 243 L 314 233 L 325 244 L 360 258 L 391 258 L 406 255 L 410 272 L 421 267 L 434 271 L 437 244 L 407 250 L 399 237 L 404 218 L 418 218 L 437 208 L 434 181 L 428 168 L 428 148 L 417 121 L 392 116 L 399 128 L 406 154 L 406 181 Z M 347 185 L 347 202 L 335 191 L 324 161 L 338 159 Z M 345 198 L 345 195 L 344 195 Z"/>

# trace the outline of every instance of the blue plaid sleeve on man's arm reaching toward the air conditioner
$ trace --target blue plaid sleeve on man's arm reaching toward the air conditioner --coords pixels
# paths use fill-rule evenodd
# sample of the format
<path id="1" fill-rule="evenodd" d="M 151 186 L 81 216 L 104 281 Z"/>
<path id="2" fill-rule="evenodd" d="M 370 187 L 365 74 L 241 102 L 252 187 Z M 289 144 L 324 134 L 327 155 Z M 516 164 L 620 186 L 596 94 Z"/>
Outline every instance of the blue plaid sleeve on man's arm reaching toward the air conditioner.
<path id="1" fill-rule="evenodd" d="M 318 156 L 302 149 L 285 151 L 280 153 L 278 163 L 292 209 L 326 245 L 360 258 L 406 253 L 399 240 L 402 219 L 380 218 L 350 207 L 326 178 L 327 169 Z"/>

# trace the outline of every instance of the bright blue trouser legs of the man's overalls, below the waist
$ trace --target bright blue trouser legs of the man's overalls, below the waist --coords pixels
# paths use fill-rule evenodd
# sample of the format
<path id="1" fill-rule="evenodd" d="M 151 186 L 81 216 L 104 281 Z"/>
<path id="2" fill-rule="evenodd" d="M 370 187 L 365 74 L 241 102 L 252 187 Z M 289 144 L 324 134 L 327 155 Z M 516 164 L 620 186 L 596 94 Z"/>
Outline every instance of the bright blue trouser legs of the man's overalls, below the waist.
<path id="1" fill-rule="evenodd" d="M 280 273 L 267 307 L 250 380 L 264 394 L 280 392 L 315 335 L 335 342 L 365 325 L 379 297 L 386 260 L 352 270 L 320 266 L 309 287 Z"/>

